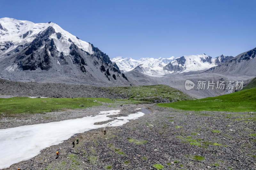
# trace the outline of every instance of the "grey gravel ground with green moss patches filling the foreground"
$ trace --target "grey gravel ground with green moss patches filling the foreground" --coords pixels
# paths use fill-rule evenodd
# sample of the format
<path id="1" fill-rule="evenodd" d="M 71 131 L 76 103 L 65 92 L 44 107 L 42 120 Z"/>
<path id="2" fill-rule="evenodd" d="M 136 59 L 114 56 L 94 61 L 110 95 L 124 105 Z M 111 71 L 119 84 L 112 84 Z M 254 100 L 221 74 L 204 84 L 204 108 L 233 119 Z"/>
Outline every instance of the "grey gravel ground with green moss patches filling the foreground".
<path id="1" fill-rule="evenodd" d="M 256 137 L 249 135 L 256 133 L 255 112 L 195 112 L 134 104 L 97 106 L 35 114 L 27 119 L 21 115 L 9 122 L 2 119 L 1 128 L 72 119 L 113 109 L 122 109 L 120 115 L 128 115 L 140 111 L 135 110 L 138 107 L 149 108 L 150 112 L 123 126 L 107 127 L 106 135 L 103 129 L 75 134 L 7 169 L 130 170 L 156 169 L 155 164 L 163 165 L 163 169 L 256 169 Z M 79 144 L 73 148 L 75 138 L 79 138 Z M 60 152 L 58 159 L 56 151 Z M 196 160 L 195 156 L 205 159 Z"/>

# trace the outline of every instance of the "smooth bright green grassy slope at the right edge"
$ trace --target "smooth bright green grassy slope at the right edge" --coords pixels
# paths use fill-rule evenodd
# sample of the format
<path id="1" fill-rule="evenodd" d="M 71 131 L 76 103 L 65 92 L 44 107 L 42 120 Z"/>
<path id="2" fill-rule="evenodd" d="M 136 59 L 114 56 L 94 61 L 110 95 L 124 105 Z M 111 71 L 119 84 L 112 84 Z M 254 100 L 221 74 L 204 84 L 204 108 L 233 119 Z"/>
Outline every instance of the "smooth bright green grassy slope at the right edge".
<path id="1" fill-rule="evenodd" d="M 256 88 L 199 100 L 185 100 L 174 103 L 158 103 L 160 107 L 173 107 L 182 110 L 209 110 L 229 112 L 256 111 Z"/>

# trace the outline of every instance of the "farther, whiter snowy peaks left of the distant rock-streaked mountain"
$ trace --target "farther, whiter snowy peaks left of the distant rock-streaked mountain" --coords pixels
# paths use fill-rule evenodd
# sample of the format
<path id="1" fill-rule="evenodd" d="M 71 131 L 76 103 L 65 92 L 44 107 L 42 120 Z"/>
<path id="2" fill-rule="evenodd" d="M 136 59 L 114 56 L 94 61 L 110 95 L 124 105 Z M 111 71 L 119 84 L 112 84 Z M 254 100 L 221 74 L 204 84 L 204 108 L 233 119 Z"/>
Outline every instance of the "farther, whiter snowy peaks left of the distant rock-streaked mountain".
<path id="1" fill-rule="evenodd" d="M 134 60 L 132 58 L 115 57 L 111 59 L 115 62 L 119 69 L 123 72 L 131 71 L 135 68 L 140 70 L 139 72 L 148 75 L 163 75 L 167 72 L 163 70 L 163 67 L 173 61 L 175 57 L 170 58 L 140 58 L 139 60 Z M 166 72 L 166 73 L 165 73 Z"/>

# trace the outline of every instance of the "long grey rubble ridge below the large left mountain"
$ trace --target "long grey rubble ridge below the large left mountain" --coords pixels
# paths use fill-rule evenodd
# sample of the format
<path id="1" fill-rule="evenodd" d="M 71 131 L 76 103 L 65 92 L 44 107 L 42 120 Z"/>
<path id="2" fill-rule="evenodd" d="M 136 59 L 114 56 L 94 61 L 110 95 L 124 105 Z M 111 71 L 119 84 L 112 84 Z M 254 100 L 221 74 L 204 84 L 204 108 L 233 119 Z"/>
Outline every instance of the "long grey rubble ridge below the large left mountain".
<path id="1" fill-rule="evenodd" d="M 27 97 L 105 97 L 108 99 L 128 99 L 122 93 L 111 92 L 108 89 L 91 85 L 76 85 L 64 83 L 18 82 L 0 78 L 0 98 Z"/>

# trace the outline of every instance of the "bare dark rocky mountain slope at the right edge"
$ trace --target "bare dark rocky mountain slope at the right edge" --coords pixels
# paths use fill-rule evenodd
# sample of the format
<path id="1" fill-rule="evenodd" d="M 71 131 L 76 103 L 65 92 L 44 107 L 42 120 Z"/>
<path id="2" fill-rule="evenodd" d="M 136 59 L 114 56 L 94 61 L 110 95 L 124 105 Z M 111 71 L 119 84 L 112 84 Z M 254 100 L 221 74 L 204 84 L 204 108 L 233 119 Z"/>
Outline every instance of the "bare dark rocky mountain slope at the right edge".
<path id="1" fill-rule="evenodd" d="M 206 72 L 239 74 L 239 75 L 256 75 L 256 48 L 237 55 L 227 63 L 212 67 Z"/>

